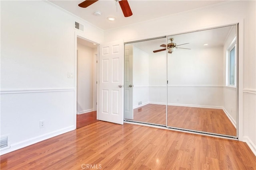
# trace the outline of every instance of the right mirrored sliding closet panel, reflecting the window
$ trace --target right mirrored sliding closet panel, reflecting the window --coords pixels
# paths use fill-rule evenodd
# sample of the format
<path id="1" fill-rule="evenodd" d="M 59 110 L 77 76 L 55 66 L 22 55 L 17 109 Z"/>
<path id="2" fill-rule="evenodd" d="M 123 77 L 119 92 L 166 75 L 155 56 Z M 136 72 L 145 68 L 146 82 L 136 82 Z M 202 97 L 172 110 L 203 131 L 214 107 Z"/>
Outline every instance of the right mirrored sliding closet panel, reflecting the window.
<path id="1" fill-rule="evenodd" d="M 236 25 L 167 38 L 167 126 L 236 136 Z"/>

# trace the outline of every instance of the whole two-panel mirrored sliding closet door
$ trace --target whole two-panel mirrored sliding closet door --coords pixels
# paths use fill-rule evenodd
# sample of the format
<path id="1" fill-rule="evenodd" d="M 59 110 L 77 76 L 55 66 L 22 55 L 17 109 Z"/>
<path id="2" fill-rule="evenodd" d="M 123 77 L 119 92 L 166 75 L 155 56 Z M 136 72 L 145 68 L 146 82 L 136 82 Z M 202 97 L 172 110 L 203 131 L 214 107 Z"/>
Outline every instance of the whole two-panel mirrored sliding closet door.
<path id="1" fill-rule="evenodd" d="M 237 138 L 237 28 L 125 44 L 125 120 Z"/>

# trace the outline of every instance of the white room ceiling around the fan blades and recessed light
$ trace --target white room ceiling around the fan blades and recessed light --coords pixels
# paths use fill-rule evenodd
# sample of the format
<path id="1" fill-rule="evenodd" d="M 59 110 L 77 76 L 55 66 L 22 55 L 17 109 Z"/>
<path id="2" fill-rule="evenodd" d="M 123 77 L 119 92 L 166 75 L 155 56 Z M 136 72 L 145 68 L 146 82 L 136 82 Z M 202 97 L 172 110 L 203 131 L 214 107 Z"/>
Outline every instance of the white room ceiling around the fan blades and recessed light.
<path id="1" fill-rule="evenodd" d="M 125 18 L 119 3 L 115 0 L 99 0 L 87 8 L 78 6 L 83 0 L 49 0 L 64 10 L 106 30 L 152 20 L 163 16 L 178 14 L 206 6 L 212 6 L 227 0 L 128 0 L 133 15 Z M 95 16 L 94 12 L 101 12 Z M 115 21 L 108 21 L 113 16 Z"/>

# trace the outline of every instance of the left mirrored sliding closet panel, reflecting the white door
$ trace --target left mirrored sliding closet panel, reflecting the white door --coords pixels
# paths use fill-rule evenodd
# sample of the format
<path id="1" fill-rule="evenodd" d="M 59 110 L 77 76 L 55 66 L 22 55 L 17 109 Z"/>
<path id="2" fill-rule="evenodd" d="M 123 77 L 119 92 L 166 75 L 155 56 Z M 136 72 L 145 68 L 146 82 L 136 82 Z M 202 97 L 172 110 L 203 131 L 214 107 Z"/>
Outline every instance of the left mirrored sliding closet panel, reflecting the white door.
<path id="1" fill-rule="evenodd" d="M 166 37 L 125 44 L 126 120 L 166 125 L 166 52 L 153 53 L 161 44 Z"/>

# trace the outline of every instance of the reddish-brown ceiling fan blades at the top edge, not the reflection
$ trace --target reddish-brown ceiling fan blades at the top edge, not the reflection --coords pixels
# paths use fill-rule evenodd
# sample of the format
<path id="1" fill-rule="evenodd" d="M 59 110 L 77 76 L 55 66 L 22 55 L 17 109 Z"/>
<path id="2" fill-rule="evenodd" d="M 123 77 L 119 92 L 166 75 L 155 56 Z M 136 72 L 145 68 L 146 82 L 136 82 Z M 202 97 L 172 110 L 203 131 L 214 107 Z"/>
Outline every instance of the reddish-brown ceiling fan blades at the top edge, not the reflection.
<path id="1" fill-rule="evenodd" d="M 90 5 L 92 5 L 94 2 L 97 2 L 98 0 L 85 0 L 84 2 L 78 4 L 78 6 L 82 8 L 86 8 Z M 132 16 L 132 10 L 129 6 L 129 3 L 127 0 L 115 0 L 116 2 L 119 2 L 120 7 L 122 9 L 122 12 L 124 14 L 124 17 Z"/>

